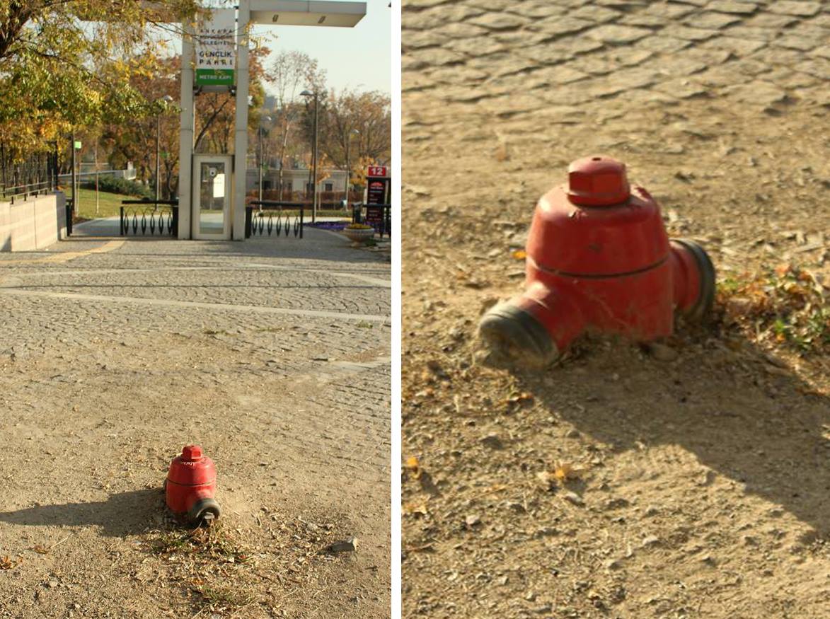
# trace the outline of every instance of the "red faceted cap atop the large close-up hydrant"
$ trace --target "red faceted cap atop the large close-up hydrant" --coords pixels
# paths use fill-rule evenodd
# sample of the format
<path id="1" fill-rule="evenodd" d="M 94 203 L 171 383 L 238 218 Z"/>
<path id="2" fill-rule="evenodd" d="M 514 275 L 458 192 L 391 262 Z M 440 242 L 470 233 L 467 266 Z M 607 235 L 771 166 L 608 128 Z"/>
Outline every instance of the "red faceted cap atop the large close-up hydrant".
<path id="1" fill-rule="evenodd" d="M 568 166 L 568 199 L 585 207 L 622 204 L 631 197 L 625 163 L 610 157 L 586 157 Z"/>

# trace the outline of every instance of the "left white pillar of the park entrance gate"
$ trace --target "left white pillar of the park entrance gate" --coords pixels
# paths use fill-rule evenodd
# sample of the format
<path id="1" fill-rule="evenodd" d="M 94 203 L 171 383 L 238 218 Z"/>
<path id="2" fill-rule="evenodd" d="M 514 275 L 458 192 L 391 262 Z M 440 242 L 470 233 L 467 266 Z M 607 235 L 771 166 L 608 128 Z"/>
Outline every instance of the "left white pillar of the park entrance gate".
<path id="1" fill-rule="evenodd" d="M 193 27 L 182 24 L 182 108 L 178 151 L 178 238 L 191 236 L 191 209 L 193 202 L 193 133 L 195 104 L 193 97 Z"/>

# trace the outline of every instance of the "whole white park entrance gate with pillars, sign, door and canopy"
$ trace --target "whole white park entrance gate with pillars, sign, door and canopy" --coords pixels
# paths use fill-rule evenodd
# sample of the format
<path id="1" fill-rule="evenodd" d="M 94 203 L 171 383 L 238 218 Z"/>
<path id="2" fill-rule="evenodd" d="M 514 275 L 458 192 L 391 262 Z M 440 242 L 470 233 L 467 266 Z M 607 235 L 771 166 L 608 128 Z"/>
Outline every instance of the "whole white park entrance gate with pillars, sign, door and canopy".
<path id="1" fill-rule="evenodd" d="M 242 241 L 245 238 L 251 46 L 248 27 L 252 23 L 266 23 L 276 28 L 353 27 L 366 14 L 366 2 L 237 0 L 236 4 L 236 9 L 212 9 L 212 18 L 202 24 L 182 24 L 178 158 L 180 239 L 233 238 Z M 315 37 L 308 38 L 315 40 Z M 232 155 L 193 153 L 195 98 L 209 90 L 231 90 L 236 101 Z M 214 177 L 210 176 L 211 167 L 217 168 Z M 214 179 L 220 175 L 223 183 L 217 182 L 214 190 Z"/>

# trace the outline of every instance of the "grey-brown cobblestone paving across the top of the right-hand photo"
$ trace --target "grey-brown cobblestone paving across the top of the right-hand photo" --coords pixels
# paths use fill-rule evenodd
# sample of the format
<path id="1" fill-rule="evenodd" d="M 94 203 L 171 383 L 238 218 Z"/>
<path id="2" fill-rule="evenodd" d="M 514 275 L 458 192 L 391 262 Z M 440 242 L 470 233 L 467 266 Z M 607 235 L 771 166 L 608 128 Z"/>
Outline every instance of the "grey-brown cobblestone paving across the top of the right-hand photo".
<path id="1" fill-rule="evenodd" d="M 545 110 L 560 122 L 613 97 L 830 104 L 827 2 L 408 0 L 403 9 L 412 114 L 452 114 L 422 105 L 427 97 L 476 103 L 473 114 Z"/>

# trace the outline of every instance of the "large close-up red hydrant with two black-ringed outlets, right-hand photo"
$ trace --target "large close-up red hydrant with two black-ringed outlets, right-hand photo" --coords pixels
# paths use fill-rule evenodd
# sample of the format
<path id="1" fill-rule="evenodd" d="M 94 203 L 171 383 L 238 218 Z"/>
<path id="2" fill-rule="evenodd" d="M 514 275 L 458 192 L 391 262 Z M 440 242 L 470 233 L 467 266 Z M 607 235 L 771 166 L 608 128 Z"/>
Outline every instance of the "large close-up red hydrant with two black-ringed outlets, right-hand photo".
<path id="1" fill-rule="evenodd" d="M 675 314 L 706 317 L 715 267 L 693 241 L 669 240 L 660 207 L 629 188 L 625 164 L 578 159 L 540 198 L 526 246 L 525 293 L 496 305 L 481 338 L 508 358 L 553 362 L 585 331 L 636 341 L 671 335 Z"/>

